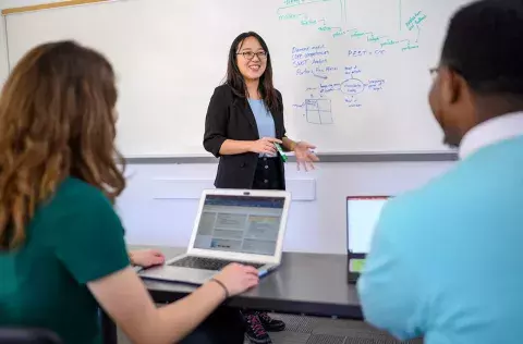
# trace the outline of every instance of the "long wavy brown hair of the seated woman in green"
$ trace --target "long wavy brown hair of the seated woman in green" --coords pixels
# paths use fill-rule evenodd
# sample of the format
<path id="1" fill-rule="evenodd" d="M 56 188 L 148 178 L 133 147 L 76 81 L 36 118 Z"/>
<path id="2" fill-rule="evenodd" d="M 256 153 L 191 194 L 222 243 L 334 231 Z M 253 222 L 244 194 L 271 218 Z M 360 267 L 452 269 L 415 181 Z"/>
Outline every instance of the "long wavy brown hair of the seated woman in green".
<path id="1" fill-rule="evenodd" d="M 68 176 L 111 201 L 121 194 L 117 98 L 111 64 L 74 41 L 38 46 L 17 63 L 0 98 L 0 250 L 25 242 L 35 210 Z"/>

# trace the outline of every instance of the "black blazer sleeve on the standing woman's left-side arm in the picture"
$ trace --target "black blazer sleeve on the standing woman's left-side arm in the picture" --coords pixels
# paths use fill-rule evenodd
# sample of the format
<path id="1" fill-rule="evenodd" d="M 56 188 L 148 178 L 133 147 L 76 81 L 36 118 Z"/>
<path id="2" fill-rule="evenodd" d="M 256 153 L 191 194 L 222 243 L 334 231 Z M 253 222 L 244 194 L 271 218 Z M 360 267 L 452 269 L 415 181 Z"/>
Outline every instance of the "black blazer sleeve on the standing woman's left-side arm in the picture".
<path id="1" fill-rule="evenodd" d="M 222 88 L 215 89 L 205 118 L 204 148 L 215 157 L 220 157 L 221 145 L 227 137 L 229 121 L 228 103 Z"/>

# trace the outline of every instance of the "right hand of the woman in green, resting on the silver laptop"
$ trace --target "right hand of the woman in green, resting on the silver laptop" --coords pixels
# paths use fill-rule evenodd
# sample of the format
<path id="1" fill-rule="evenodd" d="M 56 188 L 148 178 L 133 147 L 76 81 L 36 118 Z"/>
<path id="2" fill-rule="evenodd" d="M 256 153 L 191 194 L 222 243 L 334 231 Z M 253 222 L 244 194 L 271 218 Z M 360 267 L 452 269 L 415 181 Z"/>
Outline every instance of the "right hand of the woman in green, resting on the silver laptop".
<path id="1" fill-rule="evenodd" d="M 258 270 L 239 263 L 230 263 L 215 277 L 226 286 L 229 296 L 234 296 L 255 286 L 259 282 Z"/>

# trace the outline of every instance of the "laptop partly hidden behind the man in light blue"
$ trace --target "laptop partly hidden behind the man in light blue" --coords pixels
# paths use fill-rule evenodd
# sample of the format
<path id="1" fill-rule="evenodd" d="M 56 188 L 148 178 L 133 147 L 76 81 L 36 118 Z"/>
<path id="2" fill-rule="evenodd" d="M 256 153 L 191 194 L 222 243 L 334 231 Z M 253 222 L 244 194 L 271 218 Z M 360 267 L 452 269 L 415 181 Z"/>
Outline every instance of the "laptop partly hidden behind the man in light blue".
<path id="1" fill-rule="evenodd" d="M 370 250 L 381 209 L 390 196 L 351 196 L 346 198 L 348 282 L 356 283 Z"/>

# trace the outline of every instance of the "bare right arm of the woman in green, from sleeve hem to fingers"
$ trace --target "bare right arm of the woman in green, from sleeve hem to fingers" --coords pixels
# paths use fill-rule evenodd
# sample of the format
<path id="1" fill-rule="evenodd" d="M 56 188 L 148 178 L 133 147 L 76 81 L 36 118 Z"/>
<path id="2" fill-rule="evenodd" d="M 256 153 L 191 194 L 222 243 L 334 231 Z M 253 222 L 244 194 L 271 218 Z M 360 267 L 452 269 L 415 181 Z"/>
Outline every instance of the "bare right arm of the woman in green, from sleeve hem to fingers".
<path id="1" fill-rule="evenodd" d="M 125 268 L 89 282 L 93 295 L 133 343 L 178 343 L 202 323 L 229 295 L 258 283 L 257 270 L 231 265 L 191 295 L 157 308 L 137 274 Z"/>

